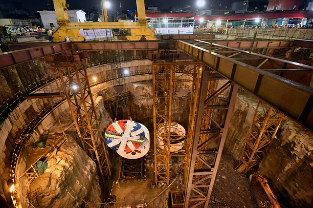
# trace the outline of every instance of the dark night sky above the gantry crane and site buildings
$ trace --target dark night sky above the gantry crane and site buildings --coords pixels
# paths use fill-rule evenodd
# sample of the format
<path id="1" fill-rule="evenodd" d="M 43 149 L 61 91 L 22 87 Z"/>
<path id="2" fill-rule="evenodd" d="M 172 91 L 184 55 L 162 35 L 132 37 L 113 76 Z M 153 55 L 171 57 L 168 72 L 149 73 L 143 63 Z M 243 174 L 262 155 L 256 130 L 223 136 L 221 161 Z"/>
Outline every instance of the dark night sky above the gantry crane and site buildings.
<path id="1" fill-rule="evenodd" d="M 2 1 L 2 0 L 1 0 Z M 9 0 L 9 1 L 18 1 L 22 3 L 22 6 L 26 9 L 29 9 L 30 15 L 34 15 L 33 11 L 35 10 L 44 10 L 44 9 L 53 9 L 53 1 L 52 0 Z M 108 0 L 111 1 L 112 4 L 115 2 L 115 9 L 119 11 L 119 4 L 122 3 L 122 10 L 132 10 L 136 9 L 136 1 L 135 0 Z M 212 4 L 213 9 L 218 9 L 220 3 L 221 9 L 225 9 L 224 7 L 227 6 L 229 9 L 230 2 L 237 1 L 237 0 L 206 0 L 206 4 L 204 8 L 210 9 L 210 5 Z M 69 3 L 69 9 L 86 9 L 90 11 L 93 7 L 100 9 L 100 0 L 67 0 Z M 47 5 L 47 4 L 50 5 Z M 145 0 L 146 6 L 158 6 L 159 9 L 169 8 L 172 6 L 181 6 L 185 7 L 186 9 L 189 8 L 191 11 L 197 10 L 196 0 Z M 114 10 L 113 7 L 110 10 Z M 200 9 L 199 9 L 200 10 Z"/>

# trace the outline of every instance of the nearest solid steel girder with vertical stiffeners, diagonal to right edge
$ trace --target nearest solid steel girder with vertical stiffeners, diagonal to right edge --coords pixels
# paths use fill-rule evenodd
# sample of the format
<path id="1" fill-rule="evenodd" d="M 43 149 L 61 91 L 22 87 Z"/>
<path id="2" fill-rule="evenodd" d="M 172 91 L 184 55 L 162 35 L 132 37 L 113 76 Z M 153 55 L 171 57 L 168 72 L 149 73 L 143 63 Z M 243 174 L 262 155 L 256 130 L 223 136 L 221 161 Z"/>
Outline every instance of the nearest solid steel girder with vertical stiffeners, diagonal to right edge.
<path id="1" fill-rule="evenodd" d="M 179 41 L 178 47 L 313 131 L 313 88 L 187 42 Z"/>

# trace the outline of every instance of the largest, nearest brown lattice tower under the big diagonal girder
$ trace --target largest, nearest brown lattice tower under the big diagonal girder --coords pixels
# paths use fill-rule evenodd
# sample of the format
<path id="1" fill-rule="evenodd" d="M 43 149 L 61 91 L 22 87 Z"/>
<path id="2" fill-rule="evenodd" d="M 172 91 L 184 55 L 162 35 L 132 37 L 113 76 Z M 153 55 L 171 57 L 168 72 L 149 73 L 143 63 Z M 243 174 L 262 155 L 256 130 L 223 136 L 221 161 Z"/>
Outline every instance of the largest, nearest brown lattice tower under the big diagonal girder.
<path id="1" fill-rule="evenodd" d="M 207 208 L 221 160 L 238 85 L 224 81 L 209 67 L 201 75 L 191 157 L 185 189 L 185 208 Z M 222 85 L 222 86 L 221 86 Z"/>

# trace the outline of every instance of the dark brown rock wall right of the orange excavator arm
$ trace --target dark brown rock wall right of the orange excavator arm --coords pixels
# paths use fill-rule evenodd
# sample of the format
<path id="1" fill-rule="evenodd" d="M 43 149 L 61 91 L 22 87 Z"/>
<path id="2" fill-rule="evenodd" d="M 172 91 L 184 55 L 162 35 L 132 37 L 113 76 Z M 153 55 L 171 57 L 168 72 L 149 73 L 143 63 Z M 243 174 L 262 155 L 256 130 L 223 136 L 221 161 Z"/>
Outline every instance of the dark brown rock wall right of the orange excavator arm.
<path id="1" fill-rule="evenodd" d="M 312 132 L 284 120 L 258 170 L 292 207 L 313 207 L 312 138 Z"/>

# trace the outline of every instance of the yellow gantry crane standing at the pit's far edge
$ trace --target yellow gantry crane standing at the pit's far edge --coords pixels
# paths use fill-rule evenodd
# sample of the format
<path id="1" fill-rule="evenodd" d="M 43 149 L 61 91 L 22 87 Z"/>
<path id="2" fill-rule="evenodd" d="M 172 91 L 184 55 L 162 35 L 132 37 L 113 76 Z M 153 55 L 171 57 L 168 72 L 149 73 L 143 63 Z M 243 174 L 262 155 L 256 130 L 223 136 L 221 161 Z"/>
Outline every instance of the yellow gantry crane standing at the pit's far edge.
<path id="1" fill-rule="evenodd" d="M 105 0 L 102 0 L 102 4 Z M 72 42 L 82 42 L 85 37 L 79 35 L 79 29 L 130 29 L 131 35 L 126 36 L 128 41 L 156 40 L 155 31 L 148 28 L 144 0 L 136 0 L 137 22 L 69 22 L 66 0 L 53 0 L 59 28 L 54 31 L 53 42 L 65 42 L 67 37 Z M 103 21 L 107 21 L 106 9 L 102 9 Z"/>

